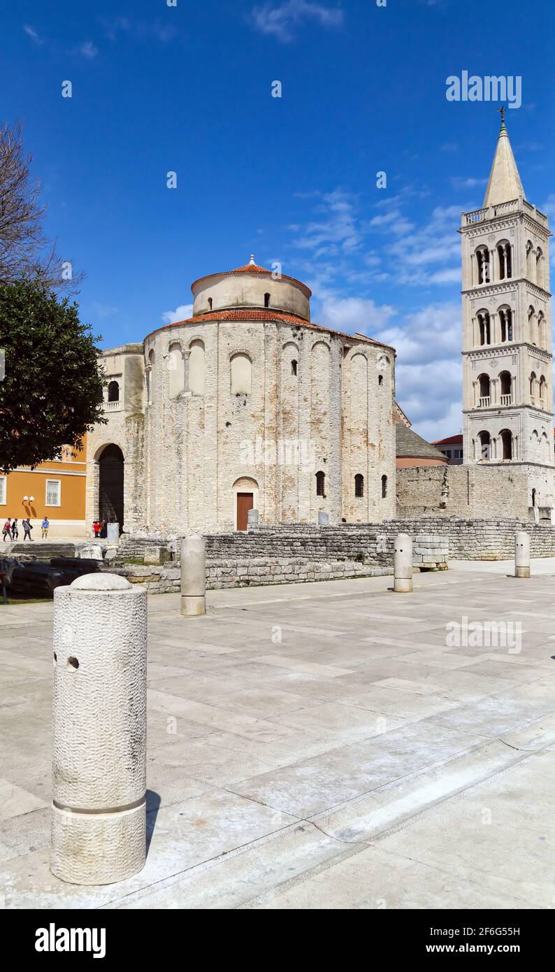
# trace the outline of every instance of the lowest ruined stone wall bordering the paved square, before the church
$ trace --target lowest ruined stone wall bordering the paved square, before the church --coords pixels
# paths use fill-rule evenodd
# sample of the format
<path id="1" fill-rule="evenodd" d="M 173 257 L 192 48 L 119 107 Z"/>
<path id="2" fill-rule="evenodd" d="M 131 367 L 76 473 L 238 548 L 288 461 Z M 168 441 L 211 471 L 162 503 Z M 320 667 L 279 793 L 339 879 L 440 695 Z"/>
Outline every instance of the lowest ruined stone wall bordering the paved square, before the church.
<path id="1" fill-rule="evenodd" d="M 131 583 L 143 584 L 150 594 L 176 594 L 181 589 L 180 570 L 164 564 L 150 567 L 125 564 L 110 567 Z M 352 561 L 314 563 L 295 557 L 231 559 L 206 562 L 206 589 L 258 587 L 265 584 L 291 584 L 312 580 L 345 580 L 347 577 L 376 577 L 393 573 L 393 567 L 376 567 Z"/>

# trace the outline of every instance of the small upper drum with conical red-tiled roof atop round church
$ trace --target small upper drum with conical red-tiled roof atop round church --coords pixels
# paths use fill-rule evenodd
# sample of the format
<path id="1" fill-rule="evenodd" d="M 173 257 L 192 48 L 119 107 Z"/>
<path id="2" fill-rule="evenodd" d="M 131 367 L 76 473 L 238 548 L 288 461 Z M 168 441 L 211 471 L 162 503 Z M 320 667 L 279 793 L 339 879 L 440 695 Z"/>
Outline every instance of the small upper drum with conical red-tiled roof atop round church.
<path id="1" fill-rule="evenodd" d="M 243 266 L 210 273 L 191 284 L 192 316 L 211 311 L 262 308 L 310 321 L 309 288 L 286 274 L 267 270 L 254 256 Z"/>

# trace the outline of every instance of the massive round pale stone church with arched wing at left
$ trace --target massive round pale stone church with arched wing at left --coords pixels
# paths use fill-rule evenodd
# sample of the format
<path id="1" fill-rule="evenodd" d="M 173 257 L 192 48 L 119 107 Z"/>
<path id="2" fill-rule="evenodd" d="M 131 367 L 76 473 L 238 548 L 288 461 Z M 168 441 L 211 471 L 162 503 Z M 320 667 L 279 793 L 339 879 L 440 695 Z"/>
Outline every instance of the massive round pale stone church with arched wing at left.
<path id="1" fill-rule="evenodd" d="M 395 516 L 395 351 L 310 320 L 254 258 L 192 286 L 192 317 L 104 351 L 87 523 L 181 536 Z M 252 514 L 252 516 L 256 514 Z"/>

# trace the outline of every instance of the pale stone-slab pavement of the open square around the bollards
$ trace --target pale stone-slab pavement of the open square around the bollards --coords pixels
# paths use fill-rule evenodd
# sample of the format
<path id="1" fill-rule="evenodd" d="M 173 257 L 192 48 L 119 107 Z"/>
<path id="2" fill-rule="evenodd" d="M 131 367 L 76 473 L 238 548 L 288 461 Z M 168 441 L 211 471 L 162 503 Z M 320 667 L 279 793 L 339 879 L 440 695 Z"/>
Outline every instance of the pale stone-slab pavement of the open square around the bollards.
<path id="1" fill-rule="evenodd" d="M 152 842 L 93 888 L 49 871 L 52 605 L 0 607 L 6 906 L 549 907 L 555 562 L 506 573 L 213 591 L 194 619 L 151 597 Z M 520 650 L 449 646 L 463 616 L 520 621 Z"/>

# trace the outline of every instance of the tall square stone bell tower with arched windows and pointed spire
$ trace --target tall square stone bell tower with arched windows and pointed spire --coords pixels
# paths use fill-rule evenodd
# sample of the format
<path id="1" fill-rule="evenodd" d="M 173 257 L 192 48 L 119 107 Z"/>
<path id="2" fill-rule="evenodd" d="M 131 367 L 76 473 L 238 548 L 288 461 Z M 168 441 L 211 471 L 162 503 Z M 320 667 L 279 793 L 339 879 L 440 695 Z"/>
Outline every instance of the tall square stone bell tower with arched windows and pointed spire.
<path id="1" fill-rule="evenodd" d="M 460 229 L 464 456 L 466 464 L 524 467 L 530 505 L 550 506 L 551 233 L 526 199 L 501 112 L 483 207 L 463 213 Z"/>

